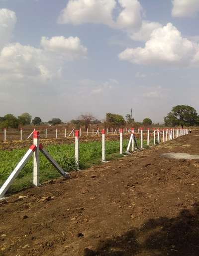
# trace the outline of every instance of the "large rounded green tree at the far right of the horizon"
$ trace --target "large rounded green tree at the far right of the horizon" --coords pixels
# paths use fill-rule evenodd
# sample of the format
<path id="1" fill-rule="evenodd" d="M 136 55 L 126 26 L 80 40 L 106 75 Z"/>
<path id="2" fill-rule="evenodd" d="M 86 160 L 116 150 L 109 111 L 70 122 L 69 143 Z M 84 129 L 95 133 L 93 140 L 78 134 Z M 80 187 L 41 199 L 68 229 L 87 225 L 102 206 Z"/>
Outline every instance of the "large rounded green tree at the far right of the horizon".
<path id="1" fill-rule="evenodd" d="M 196 109 L 191 106 L 177 105 L 172 108 L 172 111 L 164 118 L 166 126 L 197 125 L 199 116 Z"/>

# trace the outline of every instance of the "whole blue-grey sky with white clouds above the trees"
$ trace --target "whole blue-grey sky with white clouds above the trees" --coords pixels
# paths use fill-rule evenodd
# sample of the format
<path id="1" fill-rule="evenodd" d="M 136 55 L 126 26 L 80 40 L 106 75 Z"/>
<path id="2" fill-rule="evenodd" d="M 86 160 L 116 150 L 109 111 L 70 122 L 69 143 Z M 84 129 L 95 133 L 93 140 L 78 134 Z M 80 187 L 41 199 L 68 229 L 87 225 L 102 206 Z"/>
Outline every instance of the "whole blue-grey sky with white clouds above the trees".
<path id="1" fill-rule="evenodd" d="M 199 0 L 0 0 L 0 116 L 199 111 Z"/>

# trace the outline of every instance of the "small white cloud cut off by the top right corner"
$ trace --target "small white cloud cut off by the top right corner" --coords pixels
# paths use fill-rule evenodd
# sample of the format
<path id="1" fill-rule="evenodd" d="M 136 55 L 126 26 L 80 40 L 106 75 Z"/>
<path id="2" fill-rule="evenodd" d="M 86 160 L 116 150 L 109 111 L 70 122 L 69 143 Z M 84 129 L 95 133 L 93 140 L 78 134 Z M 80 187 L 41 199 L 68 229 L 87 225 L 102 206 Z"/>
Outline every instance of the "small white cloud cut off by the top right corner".
<path id="1" fill-rule="evenodd" d="M 174 17 L 192 17 L 199 12 L 199 0 L 172 0 Z"/>

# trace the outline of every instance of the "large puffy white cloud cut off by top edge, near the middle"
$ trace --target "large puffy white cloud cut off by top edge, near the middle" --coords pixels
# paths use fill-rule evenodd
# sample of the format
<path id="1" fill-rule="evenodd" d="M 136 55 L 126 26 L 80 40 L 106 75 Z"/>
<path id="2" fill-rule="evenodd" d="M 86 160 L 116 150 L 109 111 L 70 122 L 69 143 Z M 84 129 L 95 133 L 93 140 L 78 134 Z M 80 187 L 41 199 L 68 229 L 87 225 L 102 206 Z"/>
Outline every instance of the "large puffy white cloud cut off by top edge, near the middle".
<path id="1" fill-rule="evenodd" d="M 114 17 L 114 11 L 119 11 Z M 138 0 L 69 0 L 59 23 L 105 24 L 126 31 L 134 40 L 147 40 L 158 22 L 143 21 L 143 8 Z"/>

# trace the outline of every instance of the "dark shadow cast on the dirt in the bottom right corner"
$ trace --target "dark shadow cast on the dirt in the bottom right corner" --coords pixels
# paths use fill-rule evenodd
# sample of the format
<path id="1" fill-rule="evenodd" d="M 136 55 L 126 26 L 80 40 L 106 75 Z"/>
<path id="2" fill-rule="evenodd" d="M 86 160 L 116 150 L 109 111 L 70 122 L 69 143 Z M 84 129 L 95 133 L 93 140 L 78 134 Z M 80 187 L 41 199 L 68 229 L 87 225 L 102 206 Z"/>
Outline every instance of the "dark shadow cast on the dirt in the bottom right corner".
<path id="1" fill-rule="evenodd" d="M 199 256 L 199 203 L 175 218 L 150 219 L 84 256 Z"/>

